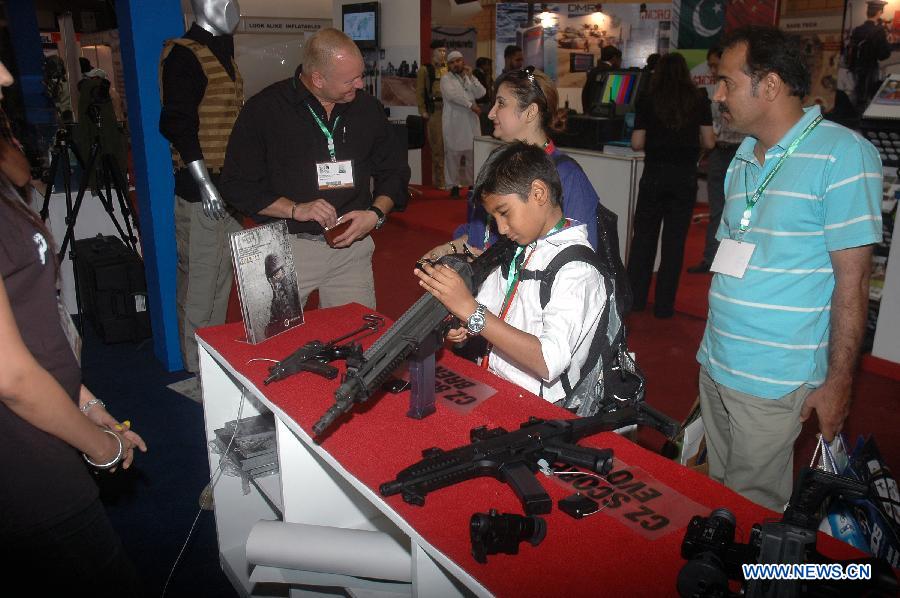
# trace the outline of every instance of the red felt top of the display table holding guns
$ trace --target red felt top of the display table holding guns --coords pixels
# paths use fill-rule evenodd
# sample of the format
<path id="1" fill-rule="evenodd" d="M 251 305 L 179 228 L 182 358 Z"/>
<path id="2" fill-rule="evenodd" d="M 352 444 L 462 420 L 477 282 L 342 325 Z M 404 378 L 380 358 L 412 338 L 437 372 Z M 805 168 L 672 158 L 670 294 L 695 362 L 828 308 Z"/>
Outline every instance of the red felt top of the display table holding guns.
<path id="1" fill-rule="evenodd" d="M 207 328 L 199 335 L 311 434 L 313 424 L 333 403 L 339 379 L 302 373 L 263 386 L 271 364 L 248 360 L 281 359 L 309 340 L 328 341 L 341 336 L 361 326 L 365 313 L 368 310 L 357 304 L 310 311 L 303 326 L 259 345 L 243 341 L 240 323 Z M 363 346 L 373 341 L 374 337 L 369 337 Z M 487 425 L 514 430 L 529 416 L 571 417 L 567 411 L 449 351 L 439 354 L 438 363 L 489 384 L 497 393 L 466 414 L 438 404 L 437 412 L 422 420 L 406 417 L 408 392 L 385 395 L 380 400 L 375 397 L 339 419 L 321 446 L 377 492 L 381 483 L 393 480 L 401 469 L 419 461 L 422 450 L 467 444 L 472 428 Z M 343 369 L 342 364 L 335 365 Z M 650 402 L 665 411 L 664 399 L 651 398 Z M 618 475 L 619 484 L 607 488 L 607 492 L 614 492 L 605 498 L 609 506 L 576 520 L 555 507 L 557 500 L 573 490 L 539 474 L 539 481 L 554 501 L 553 512 L 543 516 L 546 538 L 538 546 L 522 543 L 518 555 L 491 555 L 484 565 L 471 555 L 469 519 L 473 513 L 486 513 L 491 508 L 521 514 L 521 503 L 507 485 L 492 478 L 469 480 L 429 494 L 423 507 L 406 504 L 399 495 L 385 500 L 432 546 L 498 596 L 673 595 L 678 571 L 685 562 L 680 547 L 683 526 L 690 516 L 708 516 L 713 508 L 727 507 L 737 518 L 737 539 L 743 542 L 754 523 L 776 517 L 721 484 L 615 433 L 598 434 L 580 444 L 613 449 L 615 471 L 635 472 L 635 480 L 643 483 L 630 481 L 630 473 Z M 583 482 L 586 487 L 592 484 L 589 478 Z M 677 512 L 679 517 L 672 518 L 662 530 L 642 530 L 642 522 L 649 528 L 658 527 L 660 518 L 654 517 L 654 512 Z M 856 555 L 849 546 L 821 534 L 818 544 L 818 549 L 832 558 Z"/>

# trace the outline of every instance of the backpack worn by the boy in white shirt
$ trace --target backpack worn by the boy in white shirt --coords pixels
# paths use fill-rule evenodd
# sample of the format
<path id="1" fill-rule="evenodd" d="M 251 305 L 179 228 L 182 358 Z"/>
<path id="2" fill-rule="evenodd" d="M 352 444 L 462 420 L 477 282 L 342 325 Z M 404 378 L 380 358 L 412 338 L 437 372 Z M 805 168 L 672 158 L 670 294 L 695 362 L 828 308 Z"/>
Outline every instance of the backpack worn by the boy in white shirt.
<path id="1" fill-rule="evenodd" d="M 586 245 L 567 247 L 544 270 L 522 270 L 520 279 L 540 281 L 540 302 L 543 309 L 550 301 L 556 273 L 564 265 L 574 261 L 590 264 L 600 272 L 607 296 L 606 306 L 591 341 L 587 361 L 579 372 L 578 382 L 570 386 L 568 370 L 564 372 L 561 379 L 566 397 L 557 403 L 580 417 L 588 417 L 600 412 L 615 411 L 623 403 L 642 401 L 645 378 L 628 351 L 624 312 L 619 307 L 621 301 L 616 277 L 603 263 L 599 252 L 595 253 Z"/>

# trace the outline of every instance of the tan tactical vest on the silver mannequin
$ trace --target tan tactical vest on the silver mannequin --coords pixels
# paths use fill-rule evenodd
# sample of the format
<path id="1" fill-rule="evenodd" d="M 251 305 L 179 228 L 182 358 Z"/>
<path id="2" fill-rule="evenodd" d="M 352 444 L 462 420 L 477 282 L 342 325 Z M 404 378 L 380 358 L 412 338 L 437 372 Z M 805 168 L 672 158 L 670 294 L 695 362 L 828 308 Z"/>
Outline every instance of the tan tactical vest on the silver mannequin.
<path id="1" fill-rule="evenodd" d="M 212 172 L 219 172 L 225 164 L 225 149 L 228 146 L 228 137 L 238 112 L 244 105 L 244 79 L 241 72 L 231 59 L 234 68 L 234 81 L 228 76 L 228 71 L 219 62 L 212 50 L 191 39 L 170 39 L 163 44 L 162 56 L 159 59 L 159 93 L 162 98 L 162 68 L 163 62 L 169 56 L 172 48 L 178 44 L 187 48 L 197 57 L 197 62 L 206 75 L 206 92 L 197 109 L 200 117 L 200 130 L 198 139 L 200 149 L 203 151 L 203 160 L 206 168 Z M 169 145 L 172 150 L 172 165 L 175 170 L 185 167 L 184 160 L 174 145 Z"/>

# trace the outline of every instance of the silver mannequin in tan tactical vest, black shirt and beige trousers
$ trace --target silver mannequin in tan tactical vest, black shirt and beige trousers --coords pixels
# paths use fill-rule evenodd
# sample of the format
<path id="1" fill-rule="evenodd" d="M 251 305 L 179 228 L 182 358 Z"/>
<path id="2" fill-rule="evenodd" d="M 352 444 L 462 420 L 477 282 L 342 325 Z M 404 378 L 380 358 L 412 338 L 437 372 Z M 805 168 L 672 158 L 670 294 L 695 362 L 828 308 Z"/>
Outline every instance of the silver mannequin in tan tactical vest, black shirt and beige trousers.
<path id="1" fill-rule="evenodd" d="M 177 311 L 185 369 L 197 372 L 194 330 L 225 322 L 231 293 L 229 234 L 241 230 L 217 188 L 225 148 L 244 103 L 232 32 L 234 0 L 191 0 L 194 23 L 163 45 L 159 130 L 175 170 Z"/>

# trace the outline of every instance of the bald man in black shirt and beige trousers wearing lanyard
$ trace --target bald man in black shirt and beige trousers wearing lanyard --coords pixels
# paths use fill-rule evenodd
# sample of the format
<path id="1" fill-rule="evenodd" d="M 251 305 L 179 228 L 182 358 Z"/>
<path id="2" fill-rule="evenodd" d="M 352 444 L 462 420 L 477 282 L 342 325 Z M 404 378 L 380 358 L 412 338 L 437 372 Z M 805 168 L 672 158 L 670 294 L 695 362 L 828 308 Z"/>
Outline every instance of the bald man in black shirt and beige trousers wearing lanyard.
<path id="1" fill-rule="evenodd" d="M 369 233 L 409 194 L 406 150 L 381 104 L 361 91 L 363 68 L 340 31 L 313 35 L 300 76 L 244 106 L 220 185 L 228 203 L 260 221 L 287 220 L 300 298 L 318 289 L 321 307 L 375 307 Z M 346 228 L 326 243 L 338 224 Z"/>

